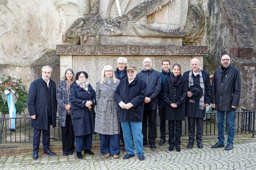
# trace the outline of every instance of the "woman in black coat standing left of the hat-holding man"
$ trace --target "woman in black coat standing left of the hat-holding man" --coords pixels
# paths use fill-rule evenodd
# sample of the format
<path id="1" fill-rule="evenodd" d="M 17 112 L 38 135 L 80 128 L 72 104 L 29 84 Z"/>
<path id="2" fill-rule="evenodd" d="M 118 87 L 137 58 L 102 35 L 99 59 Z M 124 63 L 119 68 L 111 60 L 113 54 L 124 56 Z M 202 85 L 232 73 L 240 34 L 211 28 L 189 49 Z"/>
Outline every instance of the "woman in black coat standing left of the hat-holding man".
<path id="1" fill-rule="evenodd" d="M 166 79 L 164 96 L 166 99 L 165 119 L 169 126 L 169 150 L 174 146 L 176 151 L 180 152 L 180 137 L 182 120 L 185 120 L 185 100 L 188 92 L 188 83 L 186 78 L 181 75 L 180 64 L 172 66 L 170 78 Z M 174 132 L 175 127 L 175 132 Z M 175 135 L 175 140 L 174 140 Z"/>

